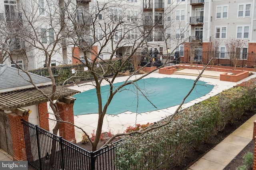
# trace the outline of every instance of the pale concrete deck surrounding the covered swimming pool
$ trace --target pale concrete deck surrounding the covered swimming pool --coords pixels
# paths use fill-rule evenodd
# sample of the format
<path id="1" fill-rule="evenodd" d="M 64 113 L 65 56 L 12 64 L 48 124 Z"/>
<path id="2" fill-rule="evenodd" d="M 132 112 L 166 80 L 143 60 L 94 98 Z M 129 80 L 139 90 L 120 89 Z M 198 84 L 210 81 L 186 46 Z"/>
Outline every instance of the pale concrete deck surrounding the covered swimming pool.
<path id="1" fill-rule="evenodd" d="M 191 73 L 198 73 L 198 70 L 190 70 L 190 69 L 184 69 L 181 70 L 182 75 L 178 74 L 159 74 L 157 71 L 153 72 L 152 74 L 148 75 L 149 77 L 154 78 L 163 78 L 163 77 L 171 77 L 171 78 L 186 78 L 186 79 L 192 79 L 195 80 L 196 76 L 191 76 Z M 184 73 L 188 72 L 190 76 L 184 75 Z M 204 75 L 212 75 L 214 77 L 219 76 L 223 72 L 216 72 L 216 71 L 205 71 Z M 138 75 L 137 75 L 138 76 Z M 239 84 L 240 82 L 243 82 L 245 80 L 249 80 L 251 78 L 256 77 L 256 72 L 248 78 L 245 78 L 239 82 L 226 82 L 226 81 L 220 81 L 216 78 L 208 78 L 208 77 L 201 77 L 200 80 L 204 82 L 208 82 L 208 84 L 214 85 L 213 90 L 206 94 L 205 96 L 202 96 L 201 98 L 197 98 L 196 100 L 192 100 L 182 106 L 182 108 L 190 107 L 194 105 L 195 103 L 201 102 L 203 100 L 206 100 L 207 98 L 214 96 L 223 90 L 229 89 L 233 87 L 236 84 Z M 128 76 L 122 76 L 116 78 L 116 82 L 123 82 L 126 80 Z M 115 82 L 115 83 L 116 83 Z M 69 87 L 74 90 L 79 90 L 81 92 L 84 92 L 86 90 L 90 90 L 94 88 L 92 83 L 85 83 L 85 84 L 78 84 L 72 87 Z M 166 96 L 167 98 L 172 98 L 175 96 Z M 172 115 L 174 111 L 176 110 L 178 106 L 168 107 L 166 109 L 156 110 L 156 111 L 150 111 L 145 113 L 131 113 L 129 111 L 126 111 L 124 113 L 120 113 L 118 115 L 106 115 L 103 122 L 102 132 L 108 132 L 111 131 L 112 133 L 122 133 L 128 126 L 134 126 L 136 124 L 146 124 L 146 123 L 154 123 L 156 121 L 159 121 L 169 115 Z M 97 120 L 98 120 L 98 114 L 86 114 L 86 115 L 77 115 L 74 116 L 74 124 L 78 127 L 81 127 L 86 133 L 91 134 L 94 129 L 97 127 Z M 50 129 L 54 127 L 54 122 L 50 122 Z M 82 131 L 75 127 L 75 136 L 76 136 L 76 142 L 81 141 L 82 137 Z"/>

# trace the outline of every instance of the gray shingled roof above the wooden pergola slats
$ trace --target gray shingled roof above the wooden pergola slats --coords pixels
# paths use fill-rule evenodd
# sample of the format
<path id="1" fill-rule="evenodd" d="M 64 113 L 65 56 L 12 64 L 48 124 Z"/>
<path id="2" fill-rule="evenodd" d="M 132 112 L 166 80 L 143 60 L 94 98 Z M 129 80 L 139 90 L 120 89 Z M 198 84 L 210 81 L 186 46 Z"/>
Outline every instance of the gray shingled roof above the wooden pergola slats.
<path id="1" fill-rule="evenodd" d="M 51 80 L 49 78 L 32 73 L 30 73 L 30 76 L 33 82 L 38 86 L 51 84 Z M 21 70 L 6 64 L 0 64 L 0 92 L 6 91 L 3 89 L 19 90 L 29 88 L 32 84 L 27 80 L 30 80 L 28 75 Z"/>

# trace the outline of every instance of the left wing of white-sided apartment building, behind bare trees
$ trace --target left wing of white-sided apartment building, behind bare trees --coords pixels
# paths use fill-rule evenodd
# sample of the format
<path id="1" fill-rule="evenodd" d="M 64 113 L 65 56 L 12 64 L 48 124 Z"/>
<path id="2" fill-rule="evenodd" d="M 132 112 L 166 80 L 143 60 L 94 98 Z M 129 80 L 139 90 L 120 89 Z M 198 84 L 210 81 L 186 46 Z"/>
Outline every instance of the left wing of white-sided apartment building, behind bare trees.
<path id="1" fill-rule="evenodd" d="M 26 70 L 72 64 L 72 47 L 77 41 L 72 30 L 88 31 L 91 0 L 4 0 L 0 2 L 2 63 Z M 63 19 L 62 19 L 63 18 Z M 71 41 L 72 39 L 72 41 Z M 12 58 L 12 61 L 10 60 Z"/>

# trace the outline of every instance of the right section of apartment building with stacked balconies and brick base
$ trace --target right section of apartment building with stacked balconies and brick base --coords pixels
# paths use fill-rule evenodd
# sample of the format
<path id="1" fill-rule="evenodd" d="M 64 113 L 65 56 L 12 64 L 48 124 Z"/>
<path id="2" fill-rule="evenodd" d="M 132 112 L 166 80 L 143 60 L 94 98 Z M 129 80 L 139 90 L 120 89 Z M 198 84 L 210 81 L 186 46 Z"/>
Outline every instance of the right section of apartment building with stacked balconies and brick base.
<path id="1" fill-rule="evenodd" d="M 236 52 L 255 53 L 255 6 L 254 0 L 144 0 L 145 19 L 151 16 L 158 22 L 148 44 L 164 55 L 167 49 L 180 52 L 181 61 L 190 60 L 190 50 L 201 61 L 213 41 L 218 41 L 214 50 L 223 52 L 223 59 L 230 41 L 242 42 Z"/>

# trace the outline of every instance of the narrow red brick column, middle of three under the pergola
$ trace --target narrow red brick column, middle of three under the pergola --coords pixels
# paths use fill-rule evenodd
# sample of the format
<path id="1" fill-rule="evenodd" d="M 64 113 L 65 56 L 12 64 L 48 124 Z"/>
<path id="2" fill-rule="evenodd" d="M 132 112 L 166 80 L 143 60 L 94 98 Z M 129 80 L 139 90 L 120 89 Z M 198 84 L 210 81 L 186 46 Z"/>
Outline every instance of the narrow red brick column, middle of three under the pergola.
<path id="1" fill-rule="evenodd" d="M 39 116 L 39 125 L 42 129 L 49 131 L 49 120 L 48 120 L 48 107 L 47 103 L 38 104 L 38 116 Z"/>

